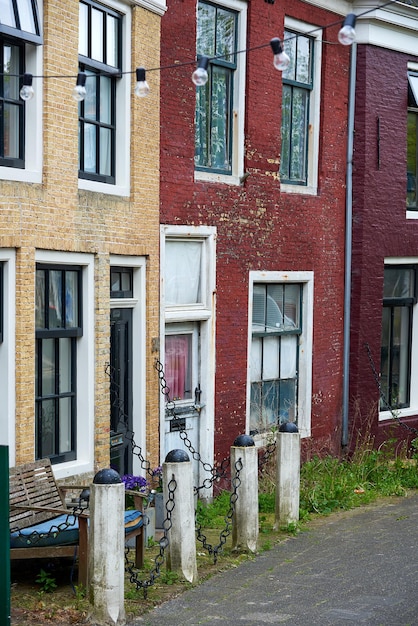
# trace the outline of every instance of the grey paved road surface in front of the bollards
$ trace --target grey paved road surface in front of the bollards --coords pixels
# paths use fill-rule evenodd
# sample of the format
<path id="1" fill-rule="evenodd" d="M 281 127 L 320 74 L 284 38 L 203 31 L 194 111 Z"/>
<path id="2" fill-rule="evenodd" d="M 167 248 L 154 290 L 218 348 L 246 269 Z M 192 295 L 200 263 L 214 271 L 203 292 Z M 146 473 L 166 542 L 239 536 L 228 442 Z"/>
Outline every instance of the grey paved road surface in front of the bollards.
<path id="1" fill-rule="evenodd" d="M 311 522 L 134 623 L 417 626 L 418 493 Z"/>

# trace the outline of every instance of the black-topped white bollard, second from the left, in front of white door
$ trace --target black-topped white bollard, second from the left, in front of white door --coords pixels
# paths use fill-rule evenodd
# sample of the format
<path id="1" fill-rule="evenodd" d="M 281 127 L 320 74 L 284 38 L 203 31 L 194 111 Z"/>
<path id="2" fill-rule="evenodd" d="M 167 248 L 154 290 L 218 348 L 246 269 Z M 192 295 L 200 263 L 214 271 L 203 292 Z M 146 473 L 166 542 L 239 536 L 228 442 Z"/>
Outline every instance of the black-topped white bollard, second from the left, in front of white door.
<path id="1" fill-rule="evenodd" d="M 173 492 L 174 489 L 174 492 Z M 170 506 L 170 491 L 174 506 Z M 163 463 L 164 503 L 169 505 L 171 527 L 167 526 L 167 569 L 181 577 L 197 581 L 195 511 L 192 463 L 183 450 L 172 450 Z M 167 517 L 167 512 L 165 512 Z M 164 524 L 167 521 L 164 520 Z"/>

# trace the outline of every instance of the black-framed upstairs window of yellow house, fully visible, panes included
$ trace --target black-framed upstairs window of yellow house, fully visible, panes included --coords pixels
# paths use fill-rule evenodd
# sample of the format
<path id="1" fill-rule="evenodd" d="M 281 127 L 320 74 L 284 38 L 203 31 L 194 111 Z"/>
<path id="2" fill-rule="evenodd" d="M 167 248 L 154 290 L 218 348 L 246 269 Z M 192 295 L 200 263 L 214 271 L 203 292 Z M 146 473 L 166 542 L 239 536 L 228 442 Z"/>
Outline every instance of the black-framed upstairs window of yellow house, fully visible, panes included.
<path id="1" fill-rule="evenodd" d="M 79 176 L 114 184 L 122 17 L 100 4 L 83 0 L 79 28 L 80 71 L 87 75 L 87 95 L 79 103 Z"/>

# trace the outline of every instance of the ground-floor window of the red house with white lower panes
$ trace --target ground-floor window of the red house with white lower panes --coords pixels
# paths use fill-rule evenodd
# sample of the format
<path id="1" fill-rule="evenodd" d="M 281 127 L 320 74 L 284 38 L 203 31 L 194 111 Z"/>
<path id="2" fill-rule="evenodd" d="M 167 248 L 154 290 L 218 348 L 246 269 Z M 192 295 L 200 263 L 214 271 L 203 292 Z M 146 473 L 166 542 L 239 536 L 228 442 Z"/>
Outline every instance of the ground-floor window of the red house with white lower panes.
<path id="1" fill-rule="evenodd" d="M 298 421 L 299 284 L 254 284 L 250 355 L 250 431 Z"/>

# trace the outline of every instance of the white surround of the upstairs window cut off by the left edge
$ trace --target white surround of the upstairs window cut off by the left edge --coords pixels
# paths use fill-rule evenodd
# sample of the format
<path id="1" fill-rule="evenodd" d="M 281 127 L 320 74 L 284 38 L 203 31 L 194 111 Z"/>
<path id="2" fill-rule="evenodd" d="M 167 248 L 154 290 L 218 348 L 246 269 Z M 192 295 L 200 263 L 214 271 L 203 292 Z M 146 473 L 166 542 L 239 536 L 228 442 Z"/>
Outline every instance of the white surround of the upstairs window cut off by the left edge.
<path id="1" fill-rule="evenodd" d="M 42 2 L 39 0 L 39 14 L 42 23 Z M 33 76 L 43 74 L 43 46 L 25 43 L 25 72 Z M 33 79 L 34 96 L 25 103 L 25 167 L 0 166 L 0 179 L 24 183 L 42 182 L 42 147 L 43 147 L 43 115 L 42 115 L 42 78 Z"/>

